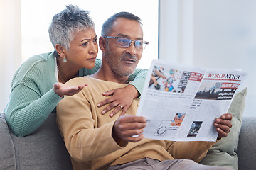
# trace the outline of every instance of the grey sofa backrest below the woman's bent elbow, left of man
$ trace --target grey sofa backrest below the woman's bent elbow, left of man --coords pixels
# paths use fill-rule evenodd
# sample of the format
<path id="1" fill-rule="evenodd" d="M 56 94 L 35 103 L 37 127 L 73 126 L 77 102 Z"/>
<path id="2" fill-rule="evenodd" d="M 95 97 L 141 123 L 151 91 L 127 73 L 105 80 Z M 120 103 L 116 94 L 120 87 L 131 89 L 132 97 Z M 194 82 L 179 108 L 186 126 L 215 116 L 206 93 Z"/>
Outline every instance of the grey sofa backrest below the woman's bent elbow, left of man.
<path id="1" fill-rule="evenodd" d="M 51 113 L 36 132 L 26 137 L 16 137 L 9 130 L 4 113 L 1 113 L 0 142 L 0 169 L 72 169 L 55 113 Z"/>

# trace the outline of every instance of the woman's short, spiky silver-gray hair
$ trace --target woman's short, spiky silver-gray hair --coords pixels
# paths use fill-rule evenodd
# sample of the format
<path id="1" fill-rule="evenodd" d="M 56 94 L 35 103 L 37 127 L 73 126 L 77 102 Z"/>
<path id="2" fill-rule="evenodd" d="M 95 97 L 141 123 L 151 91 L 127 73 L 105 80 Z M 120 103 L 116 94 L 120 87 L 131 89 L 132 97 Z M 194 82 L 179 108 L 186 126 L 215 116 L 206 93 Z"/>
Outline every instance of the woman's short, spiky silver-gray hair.
<path id="1" fill-rule="evenodd" d="M 66 9 L 53 16 L 48 29 L 50 42 L 54 49 L 56 44 L 60 44 L 69 50 L 74 34 L 88 28 L 95 29 L 95 23 L 90 18 L 89 12 L 78 8 L 78 6 L 68 5 Z"/>

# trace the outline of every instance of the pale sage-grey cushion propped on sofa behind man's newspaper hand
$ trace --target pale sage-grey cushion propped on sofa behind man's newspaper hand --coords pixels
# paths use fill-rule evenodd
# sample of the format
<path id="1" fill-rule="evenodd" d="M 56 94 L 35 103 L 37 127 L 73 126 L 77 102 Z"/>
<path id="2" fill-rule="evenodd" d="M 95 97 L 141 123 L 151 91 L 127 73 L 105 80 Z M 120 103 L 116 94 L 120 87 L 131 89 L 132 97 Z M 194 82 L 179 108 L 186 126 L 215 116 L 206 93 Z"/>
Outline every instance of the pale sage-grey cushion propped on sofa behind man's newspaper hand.
<path id="1" fill-rule="evenodd" d="M 213 147 L 208 150 L 206 157 L 200 162 L 201 164 L 238 169 L 237 147 L 246 94 L 247 88 L 235 94 L 230 108 L 228 109 L 228 113 L 233 115 L 231 121 L 233 126 L 228 133 L 228 137 L 224 137 L 213 145 Z"/>

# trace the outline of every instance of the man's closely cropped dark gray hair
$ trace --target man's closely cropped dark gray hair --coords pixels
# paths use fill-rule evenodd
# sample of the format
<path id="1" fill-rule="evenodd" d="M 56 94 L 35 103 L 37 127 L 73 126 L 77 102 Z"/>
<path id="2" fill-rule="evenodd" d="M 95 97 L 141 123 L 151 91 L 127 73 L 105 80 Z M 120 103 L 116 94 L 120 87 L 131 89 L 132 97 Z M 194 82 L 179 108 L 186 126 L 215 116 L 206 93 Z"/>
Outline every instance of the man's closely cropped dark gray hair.
<path id="1" fill-rule="evenodd" d="M 114 21 L 117 20 L 117 18 L 125 18 L 125 19 L 129 19 L 129 20 L 134 20 L 142 25 L 142 20 L 138 16 L 135 16 L 134 14 L 129 13 L 129 12 L 119 12 L 119 13 L 114 14 L 110 18 L 108 18 L 107 21 L 105 21 L 105 23 L 103 23 L 102 32 L 101 32 L 102 36 L 110 35 L 110 33 L 112 31 L 113 23 L 114 23 Z"/>

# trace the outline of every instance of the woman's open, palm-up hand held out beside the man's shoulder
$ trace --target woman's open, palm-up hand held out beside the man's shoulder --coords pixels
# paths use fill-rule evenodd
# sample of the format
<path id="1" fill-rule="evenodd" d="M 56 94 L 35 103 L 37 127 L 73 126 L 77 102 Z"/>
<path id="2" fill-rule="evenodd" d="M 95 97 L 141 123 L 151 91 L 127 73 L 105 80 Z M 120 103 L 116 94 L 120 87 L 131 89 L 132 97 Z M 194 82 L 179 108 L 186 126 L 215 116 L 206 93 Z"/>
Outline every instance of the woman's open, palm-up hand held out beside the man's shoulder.
<path id="1" fill-rule="evenodd" d="M 68 86 L 62 83 L 55 83 L 53 84 L 53 89 L 58 96 L 64 97 L 64 95 L 73 96 L 74 94 L 78 94 L 78 92 L 85 86 L 87 86 L 87 84 L 82 84 L 80 86 Z"/>

